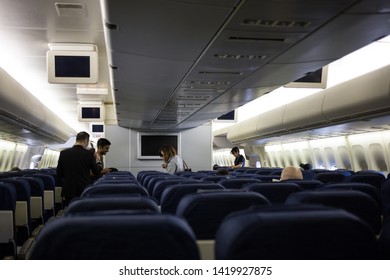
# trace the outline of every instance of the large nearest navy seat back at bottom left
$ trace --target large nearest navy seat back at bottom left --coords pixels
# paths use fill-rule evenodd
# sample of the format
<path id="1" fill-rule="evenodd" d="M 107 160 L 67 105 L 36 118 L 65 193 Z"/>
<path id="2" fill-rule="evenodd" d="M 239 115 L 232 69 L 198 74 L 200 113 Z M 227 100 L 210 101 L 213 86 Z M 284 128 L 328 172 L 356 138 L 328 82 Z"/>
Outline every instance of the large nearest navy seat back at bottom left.
<path id="1" fill-rule="evenodd" d="M 30 259 L 199 259 L 194 234 L 173 215 L 64 217 L 37 236 Z"/>

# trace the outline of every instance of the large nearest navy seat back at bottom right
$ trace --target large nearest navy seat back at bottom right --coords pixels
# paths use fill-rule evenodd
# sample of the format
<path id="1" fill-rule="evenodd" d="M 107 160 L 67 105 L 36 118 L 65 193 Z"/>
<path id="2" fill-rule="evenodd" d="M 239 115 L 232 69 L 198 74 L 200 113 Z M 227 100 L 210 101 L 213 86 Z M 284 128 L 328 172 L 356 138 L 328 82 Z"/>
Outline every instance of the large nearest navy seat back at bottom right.
<path id="1" fill-rule="evenodd" d="M 376 237 L 345 210 L 274 205 L 229 215 L 215 238 L 216 259 L 375 259 Z"/>

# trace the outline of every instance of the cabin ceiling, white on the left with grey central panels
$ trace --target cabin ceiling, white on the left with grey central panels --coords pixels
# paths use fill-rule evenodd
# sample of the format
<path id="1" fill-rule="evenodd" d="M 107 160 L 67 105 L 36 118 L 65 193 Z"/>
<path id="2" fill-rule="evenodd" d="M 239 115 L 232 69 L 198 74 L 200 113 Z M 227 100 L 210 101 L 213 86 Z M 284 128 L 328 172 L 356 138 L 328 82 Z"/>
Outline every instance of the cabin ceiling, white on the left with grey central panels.
<path id="1" fill-rule="evenodd" d="M 123 127 L 198 126 L 390 34 L 386 0 L 56 2 L 0 0 L 0 67 L 75 130 L 85 99 Z M 107 95 L 47 82 L 48 44 L 63 42 L 97 45 L 88 87 Z"/>

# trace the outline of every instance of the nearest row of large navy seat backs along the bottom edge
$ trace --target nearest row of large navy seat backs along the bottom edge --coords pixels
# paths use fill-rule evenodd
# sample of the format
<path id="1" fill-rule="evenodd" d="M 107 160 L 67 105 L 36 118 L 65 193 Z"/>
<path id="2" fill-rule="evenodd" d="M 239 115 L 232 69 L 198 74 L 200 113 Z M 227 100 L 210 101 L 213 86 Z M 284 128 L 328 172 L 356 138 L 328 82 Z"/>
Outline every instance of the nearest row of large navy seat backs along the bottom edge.
<path id="1" fill-rule="evenodd" d="M 383 232 L 389 231 L 386 225 Z M 388 257 L 387 239 L 383 235 L 378 241 L 367 223 L 342 209 L 267 205 L 226 216 L 211 250 L 215 259 L 377 259 Z M 200 259 L 198 241 L 180 216 L 150 211 L 89 212 L 47 224 L 26 256 L 44 260 Z"/>

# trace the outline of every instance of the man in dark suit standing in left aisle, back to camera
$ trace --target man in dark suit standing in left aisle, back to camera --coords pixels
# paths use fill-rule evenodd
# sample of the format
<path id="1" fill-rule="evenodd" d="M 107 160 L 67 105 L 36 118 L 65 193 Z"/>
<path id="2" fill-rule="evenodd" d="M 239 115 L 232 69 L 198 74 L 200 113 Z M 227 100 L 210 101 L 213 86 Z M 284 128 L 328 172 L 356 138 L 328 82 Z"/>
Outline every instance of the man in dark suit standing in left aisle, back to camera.
<path id="1" fill-rule="evenodd" d="M 79 197 L 84 188 L 91 183 L 90 173 L 99 175 L 102 168 L 95 160 L 94 154 L 87 149 L 89 134 L 85 131 L 76 136 L 72 148 L 61 151 L 57 164 L 57 176 L 62 185 L 61 196 L 64 206 Z"/>

